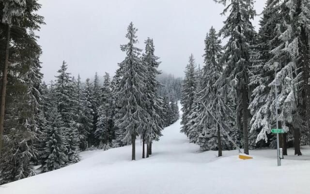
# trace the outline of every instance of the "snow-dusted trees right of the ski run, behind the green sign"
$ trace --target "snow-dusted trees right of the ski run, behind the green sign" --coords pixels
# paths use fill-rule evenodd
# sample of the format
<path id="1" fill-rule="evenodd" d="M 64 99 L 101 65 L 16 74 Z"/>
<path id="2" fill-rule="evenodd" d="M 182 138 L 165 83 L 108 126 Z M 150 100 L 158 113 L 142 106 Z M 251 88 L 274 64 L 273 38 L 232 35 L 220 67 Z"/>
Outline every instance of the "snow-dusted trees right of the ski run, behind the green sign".
<path id="1" fill-rule="evenodd" d="M 233 148 L 227 132 L 248 154 L 249 148 L 276 146 L 271 129 L 278 113 L 279 128 L 286 131 L 280 147 L 286 155 L 294 146 L 301 155 L 310 132 L 310 1 L 267 0 L 259 32 L 251 23 L 254 0 L 216 1 L 228 16 L 218 33 L 211 28 L 205 38 L 202 70 L 189 58 L 182 131 L 219 156 Z M 228 40 L 224 47 L 220 37 Z"/>

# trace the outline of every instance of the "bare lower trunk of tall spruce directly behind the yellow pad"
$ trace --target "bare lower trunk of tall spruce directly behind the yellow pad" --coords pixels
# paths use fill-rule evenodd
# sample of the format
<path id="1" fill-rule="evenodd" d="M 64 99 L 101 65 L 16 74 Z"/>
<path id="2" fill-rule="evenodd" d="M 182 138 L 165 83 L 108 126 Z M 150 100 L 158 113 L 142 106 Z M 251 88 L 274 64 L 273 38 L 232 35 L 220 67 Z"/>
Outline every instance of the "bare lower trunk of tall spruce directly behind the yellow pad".
<path id="1" fill-rule="evenodd" d="M 243 147 L 248 154 L 248 85 L 245 84 L 242 91 L 242 117 L 243 117 Z"/>

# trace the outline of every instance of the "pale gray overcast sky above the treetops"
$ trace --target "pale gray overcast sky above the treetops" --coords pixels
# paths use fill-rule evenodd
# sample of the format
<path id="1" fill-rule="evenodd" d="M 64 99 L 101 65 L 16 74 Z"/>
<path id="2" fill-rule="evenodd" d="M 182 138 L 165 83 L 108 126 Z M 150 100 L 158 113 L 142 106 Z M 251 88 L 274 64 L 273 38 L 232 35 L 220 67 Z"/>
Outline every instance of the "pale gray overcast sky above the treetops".
<path id="1" fill-rule="evenodd" d="M 224 6 L 213 0 L 39 0 L 47 25 L 37 34 L 42 46 L 44 80 L 54 80 L 65 60 L 68 70 L 82 80 L 97 71 L 111 75 L 124 60 L 126 28 L 132 21 L 140 49 L 147 37 L 154 39 L 160 69 L 183 76 L 191 53 L 202 64 L 204 38 L 211 26 L 218 31 Z M 258 13 L 265 0 L 257 0 Z M 258 26 L 258 19 L 254 25 Z"/>

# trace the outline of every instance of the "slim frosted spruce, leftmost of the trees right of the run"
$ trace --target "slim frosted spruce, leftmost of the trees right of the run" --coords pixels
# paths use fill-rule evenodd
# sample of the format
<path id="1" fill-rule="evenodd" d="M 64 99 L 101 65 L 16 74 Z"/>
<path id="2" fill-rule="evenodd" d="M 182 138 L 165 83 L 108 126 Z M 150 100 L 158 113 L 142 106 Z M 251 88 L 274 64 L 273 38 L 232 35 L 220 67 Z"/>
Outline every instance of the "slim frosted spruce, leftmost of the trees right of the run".
<path id="1" fill-rule="evenodd" d="M 183 81 L 183 88 L 182 88 L 182 98 L 181 104 L 183 105 L 182 111 L 182 121 L 181 124 L 183 125 L 181 128 L 181 132 L 188 135 L 188 126 L 186 123 L 189 121 L 189 116 L 191 110 L 194 108 L 194 98 L 196 93 L 196 86 L 197 86 L 197 73 L 196 73 L 196 64 L 193 54 L 190 55 L 188 64 L 186 65 L 185 70 L 185 79 Z"/>

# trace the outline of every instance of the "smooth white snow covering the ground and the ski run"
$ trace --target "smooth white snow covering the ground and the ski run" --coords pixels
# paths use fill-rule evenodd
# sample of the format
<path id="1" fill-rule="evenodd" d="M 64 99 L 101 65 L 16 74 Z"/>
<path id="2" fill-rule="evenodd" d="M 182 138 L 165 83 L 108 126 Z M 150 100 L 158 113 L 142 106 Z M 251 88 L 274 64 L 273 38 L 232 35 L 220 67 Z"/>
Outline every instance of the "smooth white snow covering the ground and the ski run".
<path id="1" fill-rule="evenodd" d="M 310 194 L 307 156 L 289 156 L 280 167 L 272 149 L 250 151 L 247 161 L 235 150 L 217 158 L 189 144 L 180 127 L 180 120 L 167 127 L 148 159 L 140 141 L 134 162 L 131 146 L 87 151 L 81 162 L 2 185 L 0 194 Z M 310 156 L 309 146 L 302 152 Z"/>

